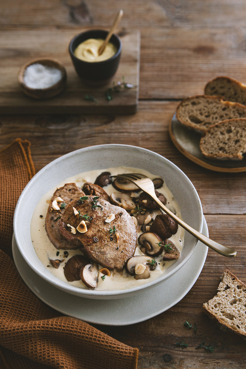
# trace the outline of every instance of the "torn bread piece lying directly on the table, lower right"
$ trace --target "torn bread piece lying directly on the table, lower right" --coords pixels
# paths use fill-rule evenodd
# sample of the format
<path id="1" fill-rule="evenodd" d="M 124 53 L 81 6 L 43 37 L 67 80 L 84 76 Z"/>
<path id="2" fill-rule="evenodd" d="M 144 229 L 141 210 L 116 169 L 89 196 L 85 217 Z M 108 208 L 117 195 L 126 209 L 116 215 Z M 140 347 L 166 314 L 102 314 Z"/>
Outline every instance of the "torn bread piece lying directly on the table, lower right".
<path id="1" fill-rule="evenodd" d="M 221 330 L 246 337 L 246 285 L 225 269 L 218 293 L 203 304 L 204 313 L 218 323 Z"/>

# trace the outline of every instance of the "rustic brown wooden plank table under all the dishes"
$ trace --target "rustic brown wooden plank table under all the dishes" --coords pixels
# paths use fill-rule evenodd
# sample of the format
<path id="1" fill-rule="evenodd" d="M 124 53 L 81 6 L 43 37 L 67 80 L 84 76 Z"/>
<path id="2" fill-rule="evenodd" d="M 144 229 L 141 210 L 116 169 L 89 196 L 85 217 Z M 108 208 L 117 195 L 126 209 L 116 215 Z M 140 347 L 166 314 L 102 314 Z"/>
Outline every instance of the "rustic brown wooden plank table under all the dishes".
<path id="1" fill-rule="evenodd" d="M 13 29 L 18 37 L 20 31 L 44 26 L 78 31 L 80 26 L 107 26 L 119 8 L 125 12 L 121 26 L 141 31 L 138 113 L 1 115 L 0 148 L 16 137 L 30 140 L 36 171 L 67 152 L 110 143 L 142 146 L 179 166 L 198 191 L 210 237 L 238 255 L 226 259 L 209 250 L 197 282 L 173 308 L 143 323 L 98 328 L 138 347 L 139 369 L 245 368 L 245 342 L 215 328 L 202 313 L 225 267 L 246 282 L 245 173 L 216 173 L 190 162 L 170 142 L 168 124 L 180 99 L 201 94 L 209 79 L 228 75 L 246 82 L 246 2 L 109 0 L 105 7 L 100 0 L 9 0 L 1 4 L 1 30 Z M 0 56 L 18 58 L 11 45 L 0 48 Z M 197 335 L 183 326 L 185 320 L 196 322 Z M 181 340 L 189 346 L 174 345 Z M 215 346 L 213 354 L 195 349 L 203 341 Z M 165 354 L 171 361 L 164 361 Z"/>

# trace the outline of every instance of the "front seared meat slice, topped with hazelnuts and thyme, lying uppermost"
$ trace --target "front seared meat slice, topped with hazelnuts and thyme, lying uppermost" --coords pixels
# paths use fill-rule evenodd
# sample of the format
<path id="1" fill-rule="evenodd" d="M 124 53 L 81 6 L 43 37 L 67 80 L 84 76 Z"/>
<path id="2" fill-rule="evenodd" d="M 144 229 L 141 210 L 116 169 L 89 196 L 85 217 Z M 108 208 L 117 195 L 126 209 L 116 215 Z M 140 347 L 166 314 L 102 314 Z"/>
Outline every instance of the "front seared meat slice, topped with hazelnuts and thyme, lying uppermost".
<path id="1" fill-rule="evenodd" d="M 73 207 L 80 214 L 74 215 Z M 71 233 L 67 224 L 76 229 L 76 234 Z M 91 261 L 108 269 L 122 270 L 136 249 L 137 233 L 132 217 L 121 207 L 97 197 L 72 201 L 60 219 L 59 229 L 69 242 L 80 242 L 81 250 Z"/>

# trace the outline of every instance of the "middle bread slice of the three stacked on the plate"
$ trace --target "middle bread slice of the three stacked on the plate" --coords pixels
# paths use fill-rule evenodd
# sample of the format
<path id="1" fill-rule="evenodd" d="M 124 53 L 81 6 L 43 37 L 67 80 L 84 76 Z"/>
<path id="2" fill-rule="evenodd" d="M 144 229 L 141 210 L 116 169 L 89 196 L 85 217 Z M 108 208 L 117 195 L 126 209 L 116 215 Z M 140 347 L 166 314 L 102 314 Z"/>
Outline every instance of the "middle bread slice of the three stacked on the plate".
<path id="1" fill-rule="evenodd" d="M 245 117 L 246 106 L 224 101 L 219 96 L 191 96 L 177 107 L 177 119 L 199 132 L 205 132 L 211 125 L 222 120 Z"/>

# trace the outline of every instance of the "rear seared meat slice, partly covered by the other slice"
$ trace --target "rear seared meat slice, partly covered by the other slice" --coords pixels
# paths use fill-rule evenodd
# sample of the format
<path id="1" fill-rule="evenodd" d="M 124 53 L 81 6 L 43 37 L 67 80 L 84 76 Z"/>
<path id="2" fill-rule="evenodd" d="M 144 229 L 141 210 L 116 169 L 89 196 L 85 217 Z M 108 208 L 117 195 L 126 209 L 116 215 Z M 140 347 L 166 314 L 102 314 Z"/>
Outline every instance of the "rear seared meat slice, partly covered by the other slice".
<path id="1" fill-rule="evenodd" d="M 45 228 L 49 239 L 57 249 L 66 250 L 78 248 L 78 246 L 67 242 L 67 240 L 60 235 L 59 221 L 68 204 L 75 199 L 79 199 L 80 196 L 84 196 L 84 192 L 77 187 L 75 183 L 66 183 L 63 187 L 57 189 L 52 196 L 46 215 Z M 54 210 L 52 207 L 52 202 L 57 197 L 60 197 L 63 200 L 63 203 L 66 205 L 59 210 Z M 62 202 L 58 201 L 58 204 L 60 206 Z"/>

